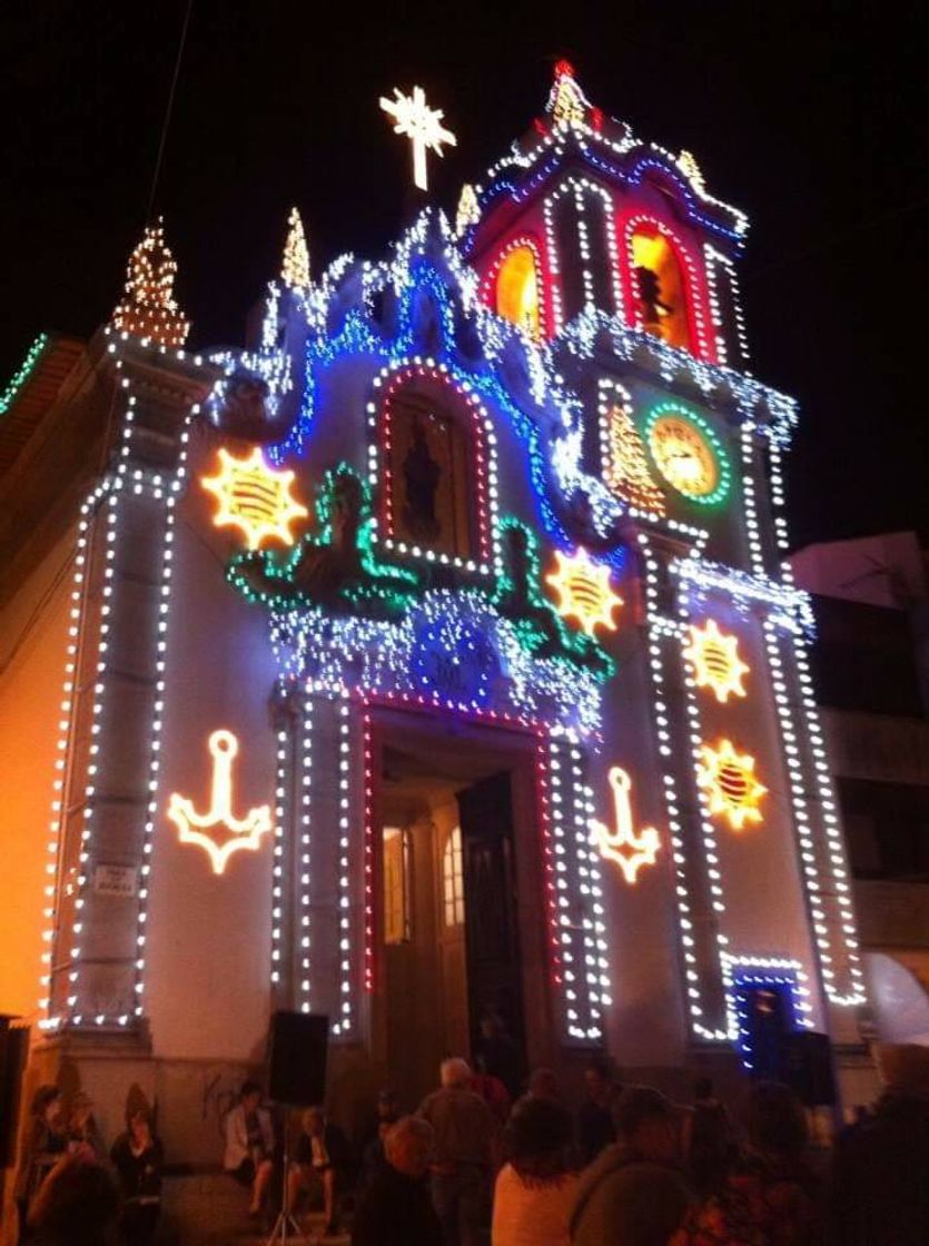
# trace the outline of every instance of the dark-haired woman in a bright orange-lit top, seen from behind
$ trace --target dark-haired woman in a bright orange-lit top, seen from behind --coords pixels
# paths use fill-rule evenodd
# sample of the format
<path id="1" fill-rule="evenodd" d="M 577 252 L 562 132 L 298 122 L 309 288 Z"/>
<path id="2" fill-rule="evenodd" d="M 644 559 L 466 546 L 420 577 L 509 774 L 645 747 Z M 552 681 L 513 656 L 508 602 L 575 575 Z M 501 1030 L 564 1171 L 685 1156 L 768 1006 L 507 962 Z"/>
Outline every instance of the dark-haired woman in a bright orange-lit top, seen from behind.
<path id="1" fill-rule="evenodd" d="M 570 1164 L 570 1113 L 547 1099 L 521 1099 L 504 1146 L 508 1163 L 493 1195 L 492 1246 L 568 1246 L 578 1187 Z"/>

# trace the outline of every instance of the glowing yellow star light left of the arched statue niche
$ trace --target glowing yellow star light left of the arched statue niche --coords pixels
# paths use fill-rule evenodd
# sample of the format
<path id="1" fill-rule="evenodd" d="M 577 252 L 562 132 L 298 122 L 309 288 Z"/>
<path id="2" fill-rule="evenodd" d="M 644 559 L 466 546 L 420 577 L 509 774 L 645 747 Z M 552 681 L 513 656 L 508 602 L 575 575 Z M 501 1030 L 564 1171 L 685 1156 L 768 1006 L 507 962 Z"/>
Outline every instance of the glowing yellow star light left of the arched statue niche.
<path id="1" fill-rule="evenodd" d="M 239 528 L 249 549 L 259 549 L 264 541 L 294 543 L 290 525 L 309 511 L 291 497 L 293 481 L 291 471 L 269 467 L 258 446 L 245 459 L 220 446 L 217 475 L 200 476 L 200 485 L 219 502 L 214 526 Z"/>

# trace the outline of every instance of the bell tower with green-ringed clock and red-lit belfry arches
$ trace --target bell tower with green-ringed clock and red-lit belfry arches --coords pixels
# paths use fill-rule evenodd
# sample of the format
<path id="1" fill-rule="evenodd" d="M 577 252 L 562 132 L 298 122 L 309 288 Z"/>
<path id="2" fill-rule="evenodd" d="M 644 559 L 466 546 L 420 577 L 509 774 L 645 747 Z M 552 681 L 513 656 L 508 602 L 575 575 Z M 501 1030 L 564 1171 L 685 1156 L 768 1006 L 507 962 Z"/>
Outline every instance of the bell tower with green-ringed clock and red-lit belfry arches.
<path id="1" fill-rule="evenodd" d="M 462 207 L 483 305 L 569 395 L 555 452 L 568 532 L 634 568 L 594 805 L 608 812 L 623 774 L 639 821 L 670 845 L 679 1037 L 735 1042 L 756 1070 L 765 1024 L 854 1037 L 863 979 L 812 617 L 781 561 L 797 409 L 745 371 L 748 221 L 690 152 L 606 117 L 565 61 Z M 645 902 L 656 883 L 606 873 L 611 928 L 636 932 L 614 949 L 611 1038 L 624 1063 L 648 1063 L 636 1030 L 674 1029 L 666 999 L 644 1002 L 666 938 Z M 773 992 L 775 1022 L 758 1019 L 758 992 Z"/>

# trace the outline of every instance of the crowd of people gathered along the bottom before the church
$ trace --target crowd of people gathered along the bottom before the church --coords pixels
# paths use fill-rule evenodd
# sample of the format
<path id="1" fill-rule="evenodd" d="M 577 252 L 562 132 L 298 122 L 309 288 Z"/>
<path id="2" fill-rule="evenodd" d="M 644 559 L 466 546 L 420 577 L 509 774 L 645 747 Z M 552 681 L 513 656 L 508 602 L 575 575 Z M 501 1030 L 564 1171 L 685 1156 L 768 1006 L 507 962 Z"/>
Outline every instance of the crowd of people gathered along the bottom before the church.
<path id="1" fill-rule="evenodd" d="M 807 1111 L 780 1083 L 753 1083 L 733 1119 L 705 1078 L 681 1106 L 594 1062 L 573 1114 L 549 1069 L 511 1103 L 502 1079 L 451 1058 L 416 1110 L 381 1093 L 357 1155 L 321 1108 L 306 1110 L 286 1171 L 247 1082 L 225 1120 L 224 1169 L 253 1216 L 281 1200 L 300 1215 L 315 1191 L 326 1235 L 345 1219 L 354 1246 L 925 1246 L 929 1053 L 885 1048 L 880 1072 L 882 1098 L 827 1150 L 811 1149 Z M 103 1246 L 121 1225 L 127 1246 L 151 1242 L 163 1154 L 147 1113 L 133 1113 L 107 1164 L 85 1096 L 67 1123 L 55 1088 L 32 1109 L 22 1240 Z"/>

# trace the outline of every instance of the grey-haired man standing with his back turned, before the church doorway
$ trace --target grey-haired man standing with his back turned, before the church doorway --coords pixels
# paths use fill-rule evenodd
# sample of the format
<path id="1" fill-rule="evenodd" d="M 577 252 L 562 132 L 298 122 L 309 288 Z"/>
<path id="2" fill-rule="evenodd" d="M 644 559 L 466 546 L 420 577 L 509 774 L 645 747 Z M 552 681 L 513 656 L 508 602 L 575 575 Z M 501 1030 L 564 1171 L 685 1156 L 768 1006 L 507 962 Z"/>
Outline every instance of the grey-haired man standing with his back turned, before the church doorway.
<path id="1" fill-rule="evenodd" d="M 497 1124 L 471 1089 L 467 1060 L 442 1062 L 442 1088 L 418 1115 L 435 1133 L 432 1204 L 446 1246 L 481 1246 L 491 1222 L 491 1182 L 497 1166 Z"/>

